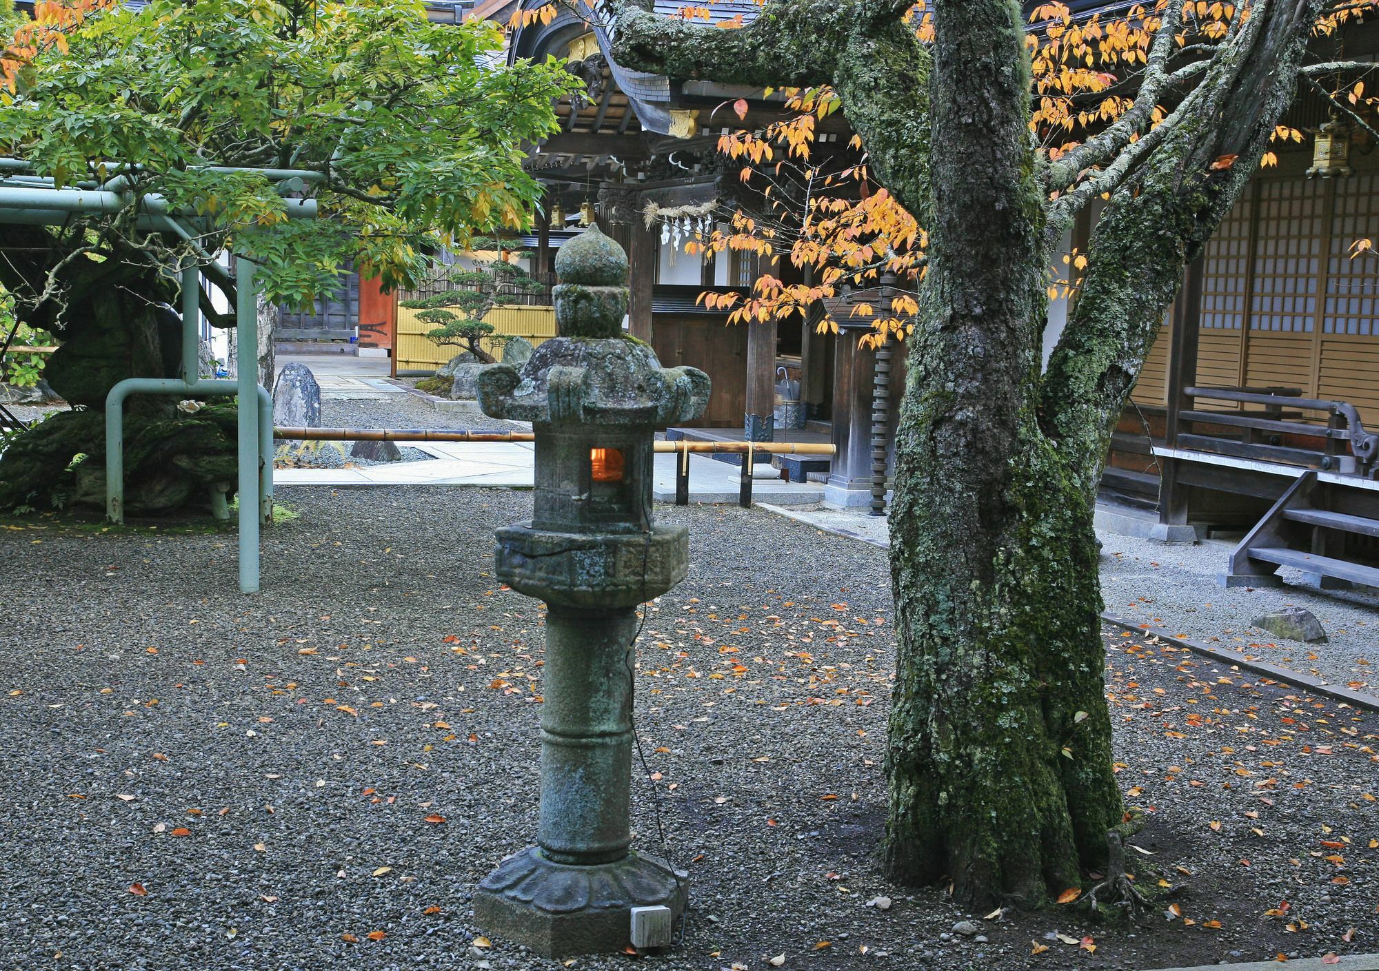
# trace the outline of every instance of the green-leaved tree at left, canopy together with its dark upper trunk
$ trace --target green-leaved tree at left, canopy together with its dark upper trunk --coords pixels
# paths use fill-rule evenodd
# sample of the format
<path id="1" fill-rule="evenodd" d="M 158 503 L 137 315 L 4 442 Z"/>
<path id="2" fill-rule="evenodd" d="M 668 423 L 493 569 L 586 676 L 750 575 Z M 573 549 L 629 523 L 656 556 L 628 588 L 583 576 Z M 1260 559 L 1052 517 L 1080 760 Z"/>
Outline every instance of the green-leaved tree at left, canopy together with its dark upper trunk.
<path id="1" fill-rule="evenodd" d="M 0 225 L 15 254 L 0 284 L 19 320 L 61 337 L 54 388 L 92 408 L 123 378 L 175 372 L 175 270 L 189 261 L 233 298 L 212 261 L 230 250 L 270 301 L 303 305 L 350 265 L 407 287 L 436 247 L 525 226 L 536 185 L 521 146 L 554 128 L 553 102 L 578 84 L 553 59 L 503 65 L 496 28 L 430 23 L 415 0 L 81 6 L 14 68 L 0 153 L 123 204 Z M 296 199 L 319 218 L 290 219 Z M 154 208 L 178 225 L 141 218 Z M 132 414 L 171 407 L 138 399 Z"/>

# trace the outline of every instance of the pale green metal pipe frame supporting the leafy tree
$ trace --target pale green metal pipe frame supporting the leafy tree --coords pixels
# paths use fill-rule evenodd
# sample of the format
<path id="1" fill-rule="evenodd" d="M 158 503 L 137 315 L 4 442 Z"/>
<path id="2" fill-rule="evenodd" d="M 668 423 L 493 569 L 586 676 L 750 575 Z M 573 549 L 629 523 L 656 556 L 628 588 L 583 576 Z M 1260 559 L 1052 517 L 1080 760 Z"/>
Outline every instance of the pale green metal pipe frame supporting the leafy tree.
<path id="1" fill-rule="evenodd" d="M 225 168 L 223 172 L 254 172 L 290 190 L 305 182 L 320 181 L 320 172 L 273 168 Z M 239 572 L 240 590 L 259 590 L 259 525 L 273 517 L 273 401 L 258 382 L 258 287 L 254 263 L 234 257 L 233 279 L 219 273 L 218 283 L 234 297 L 236 367 L 234 381 L 201 381 L 199 367 L 200 273 L 215 274 L 219 265 L 211 254 L 196 246 L 199 223 L 192 211 L 177 210 L 154 193 L 135 196 L 124 172 L 105 182 L 77 182 L 59 188 L 54 179 L 30 174 L 22 159 L 0 159 L 0 222 L 30 226 L 61 226 L 80 215 L 116 215 L 137 207 L 135 226 L 149 232 L 172 233 L 190 243 L 199 261 L 181 268 L 182 274 L 182 377 L 125 378 L 106 396 L 105 407 L 105 488 L 106 517 L 124 521 L 124 400 L 130 394 L 207 394 L 236 396 L 239 472 Z M 316 200 L 287 199 L 287 215 L 295 219 L 316 218 Z M 233 283 L 233 287 L 229 284 Z"/>

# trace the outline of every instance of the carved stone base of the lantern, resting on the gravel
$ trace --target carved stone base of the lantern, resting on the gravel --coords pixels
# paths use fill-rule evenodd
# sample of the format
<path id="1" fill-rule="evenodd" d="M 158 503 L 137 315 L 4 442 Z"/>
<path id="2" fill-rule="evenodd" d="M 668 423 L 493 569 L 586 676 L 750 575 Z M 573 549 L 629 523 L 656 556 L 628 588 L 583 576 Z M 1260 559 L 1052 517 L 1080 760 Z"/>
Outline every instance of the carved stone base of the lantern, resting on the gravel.
<path id="1" fill-rule="evenodd" d="M 678 924 L 688 897 L 690 876 L 655 857 L 574 866 L 528 847 L 479 884 L 474 921 L 545 957 L 616 953 L 632 941 L 632 908 L 667 906 Z"/>

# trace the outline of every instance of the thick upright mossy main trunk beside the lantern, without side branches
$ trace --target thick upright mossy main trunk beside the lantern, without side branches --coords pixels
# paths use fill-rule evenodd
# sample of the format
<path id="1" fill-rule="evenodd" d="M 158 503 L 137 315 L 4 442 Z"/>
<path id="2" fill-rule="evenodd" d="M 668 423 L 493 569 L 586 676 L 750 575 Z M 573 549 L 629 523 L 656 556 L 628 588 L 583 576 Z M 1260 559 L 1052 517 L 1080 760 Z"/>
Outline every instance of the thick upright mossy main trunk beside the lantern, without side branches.
<path id="1" fill-rule="evenodd" d="M 1040 903 L 1121 822 L 1089 497 L 1038 425 L 1043 189 L 1015 3 L 934 4 L 929 270 L 896 440 L 885 857 Z M 982 226 L 976 234 L 974 226 Z"/>

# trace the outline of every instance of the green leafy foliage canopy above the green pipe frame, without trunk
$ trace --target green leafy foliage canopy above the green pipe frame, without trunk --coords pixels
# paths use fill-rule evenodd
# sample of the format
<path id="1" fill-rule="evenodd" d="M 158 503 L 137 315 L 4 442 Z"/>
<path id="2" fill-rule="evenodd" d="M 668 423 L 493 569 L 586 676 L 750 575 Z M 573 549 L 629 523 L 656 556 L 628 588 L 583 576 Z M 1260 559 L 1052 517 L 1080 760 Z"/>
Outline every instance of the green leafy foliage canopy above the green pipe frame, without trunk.
<path id="1" fill-rule="evenodd" d="M 552 105 L 579 81 L 554 59 L 495 62 L 501 48 L 494 25 L 434 25 L 415 0 L 114 6 L 21 70 L 0 152 L 59 185 L 120 177 L 163 196 L 203 250 L 259 263 L 273 301 L 331 291 L 349 261 L 407 287 L 437 243 L 530 222 L 521 148 L 556 130 Z M 317 200 L 320 218 L 287 219 L 285 194 Z M 185 241 L 130 217 L 90 225 L 181 258 L 168 247 Z"/>

